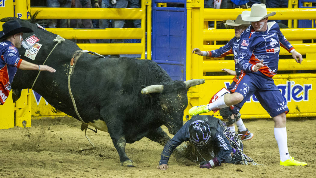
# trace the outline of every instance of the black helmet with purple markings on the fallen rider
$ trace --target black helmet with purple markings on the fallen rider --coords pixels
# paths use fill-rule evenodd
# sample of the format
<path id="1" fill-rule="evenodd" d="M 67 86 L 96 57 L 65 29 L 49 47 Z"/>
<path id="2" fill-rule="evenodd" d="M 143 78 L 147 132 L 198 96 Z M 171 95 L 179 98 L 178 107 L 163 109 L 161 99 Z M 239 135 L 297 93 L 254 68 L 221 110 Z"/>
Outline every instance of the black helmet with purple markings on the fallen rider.
<path id="1" fill-rule="evenodd" d="M 192 122 L 189 133 L 189 141 L 196 146 L 205 146 L 211 140 L 210 126 L 202 120 Z"/>

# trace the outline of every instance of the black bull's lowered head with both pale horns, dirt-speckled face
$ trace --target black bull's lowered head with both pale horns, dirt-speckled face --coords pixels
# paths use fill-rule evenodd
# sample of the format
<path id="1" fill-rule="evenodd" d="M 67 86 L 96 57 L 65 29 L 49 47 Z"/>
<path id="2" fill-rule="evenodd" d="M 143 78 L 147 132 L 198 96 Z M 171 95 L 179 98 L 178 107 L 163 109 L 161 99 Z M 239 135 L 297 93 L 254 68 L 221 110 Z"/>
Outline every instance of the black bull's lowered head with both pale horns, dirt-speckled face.
<path id="1" fill-rule="evenodd" d="M 169 133 L 175 134 L 183 126 L 183 112 L 188 106 L 187 90 L 194 85 L 204 83 L 204 79 L 173 81 L 165 85 L 150 85 L 142 89 L 142 94 L 160 93 L 159 117 L 168 128 Z"/>

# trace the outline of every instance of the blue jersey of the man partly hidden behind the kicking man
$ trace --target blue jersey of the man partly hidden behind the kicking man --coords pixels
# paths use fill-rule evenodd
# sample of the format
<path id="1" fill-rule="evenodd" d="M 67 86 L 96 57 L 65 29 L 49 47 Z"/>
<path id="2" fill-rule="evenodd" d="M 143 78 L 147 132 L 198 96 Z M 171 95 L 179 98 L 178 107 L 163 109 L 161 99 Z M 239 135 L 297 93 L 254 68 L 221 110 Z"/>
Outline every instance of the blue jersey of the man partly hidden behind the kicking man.
<path id="1" fill-rule="evenodd" d="M 234 82 L 237 82 L 238 77 L 240 75 L 240 67 L 239 67 L 239 60 L 238 60 L 238 46 L 239 46 L 239 38 L 233 37 L 227 44 L 220 47 L 219 49 L 215 49 L 209 51 L 210 57 L 220 58 L 225 57 L 227 55 L 233 54 L 234 55 L 234 62 L 235 62 L 235 71 L 237 76 L 233 78 Z"/>

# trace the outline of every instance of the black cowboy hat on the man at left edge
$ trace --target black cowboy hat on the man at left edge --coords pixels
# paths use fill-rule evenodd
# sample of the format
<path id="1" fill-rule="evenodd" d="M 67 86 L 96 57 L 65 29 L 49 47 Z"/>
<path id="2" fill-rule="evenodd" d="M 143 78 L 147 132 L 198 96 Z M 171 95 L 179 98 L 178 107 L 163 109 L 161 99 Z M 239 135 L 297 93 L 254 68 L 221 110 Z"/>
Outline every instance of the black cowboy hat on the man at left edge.
<path id="1" fill-rule="evenodd" d="M 9 37 L 11 35 L 21 33 L 21 32 L 33 32 L 32 29 L 27 27 L 22 27 L 19 21 L 17 20 L 10 20 L 5 22 L 2 25 L 3 31 L 0 32 L 0 39 Z"/>

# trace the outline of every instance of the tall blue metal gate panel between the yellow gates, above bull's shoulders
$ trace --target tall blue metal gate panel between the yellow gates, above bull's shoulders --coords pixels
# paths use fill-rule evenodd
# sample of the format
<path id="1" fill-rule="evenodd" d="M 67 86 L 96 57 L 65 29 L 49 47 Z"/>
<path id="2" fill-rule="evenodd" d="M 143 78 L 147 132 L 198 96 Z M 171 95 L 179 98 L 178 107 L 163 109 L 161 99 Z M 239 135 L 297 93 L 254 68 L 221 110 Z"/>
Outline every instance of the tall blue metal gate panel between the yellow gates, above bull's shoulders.
<path id="1" fill-rule="evenodd" d="M 184 0 L 168 0 L 169 3 L 172 1 L 184 3 L 185 7 L 155 7 L 160 1 L 153 2 L 152 60 L 173 80 L 185 80 L 186 3 Z"/>

